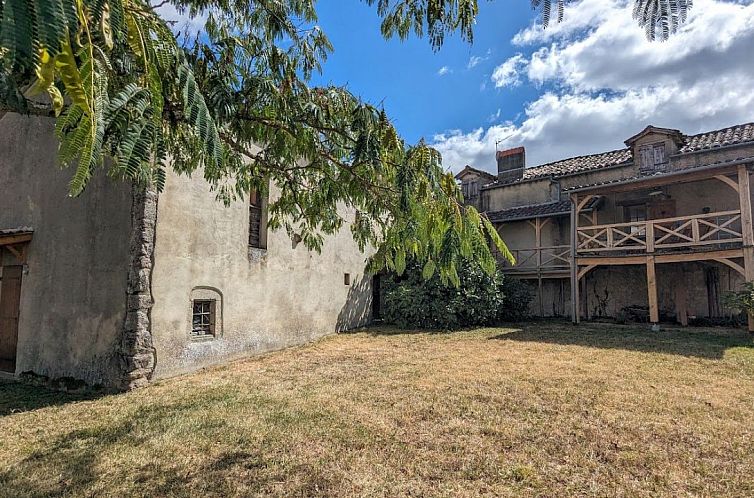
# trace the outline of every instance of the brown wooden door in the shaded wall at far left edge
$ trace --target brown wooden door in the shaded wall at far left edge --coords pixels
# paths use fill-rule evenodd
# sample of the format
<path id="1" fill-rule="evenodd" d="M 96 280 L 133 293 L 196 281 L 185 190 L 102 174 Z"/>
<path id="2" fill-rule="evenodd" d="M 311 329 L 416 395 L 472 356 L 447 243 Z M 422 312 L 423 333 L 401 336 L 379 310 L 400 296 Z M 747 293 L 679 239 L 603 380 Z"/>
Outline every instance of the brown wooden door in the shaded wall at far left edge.
<path id="1" fill-rule="evenodd" d="M 0 370 L 15 373 L 22 266 L 3 267 L 0 285 Z"/>

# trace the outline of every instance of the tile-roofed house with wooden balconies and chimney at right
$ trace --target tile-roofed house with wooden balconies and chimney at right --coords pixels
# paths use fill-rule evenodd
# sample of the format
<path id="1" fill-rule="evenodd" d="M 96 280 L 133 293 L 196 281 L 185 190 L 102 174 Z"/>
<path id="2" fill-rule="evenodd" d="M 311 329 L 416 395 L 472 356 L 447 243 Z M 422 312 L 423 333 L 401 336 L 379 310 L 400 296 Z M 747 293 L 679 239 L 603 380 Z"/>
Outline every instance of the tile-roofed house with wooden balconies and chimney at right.
<path id="1" fill-rule="evenodd" d="M 497 176 L 464 169 L 470 202 L 516 257 L 539 316 L 721 321 L 721 296 L 754 280 L 754 124 L 685 135 L 648 126 L 618 150 L 526 167 L 497 152 Z M 478 192 L 477 192 L 478 190 Z"/>

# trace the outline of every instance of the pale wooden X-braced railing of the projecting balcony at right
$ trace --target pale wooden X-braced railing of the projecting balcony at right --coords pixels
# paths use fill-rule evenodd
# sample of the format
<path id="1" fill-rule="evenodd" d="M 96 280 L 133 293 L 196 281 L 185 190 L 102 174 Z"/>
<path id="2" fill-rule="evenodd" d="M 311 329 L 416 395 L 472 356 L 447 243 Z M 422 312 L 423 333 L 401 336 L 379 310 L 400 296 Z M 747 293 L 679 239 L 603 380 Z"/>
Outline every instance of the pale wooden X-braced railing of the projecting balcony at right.
<path id="1" fill-rule="evenodd" d="M 577 229 L 578 252 L 648 252 L 743 241 L 741 211 L 593 225 Z"/>

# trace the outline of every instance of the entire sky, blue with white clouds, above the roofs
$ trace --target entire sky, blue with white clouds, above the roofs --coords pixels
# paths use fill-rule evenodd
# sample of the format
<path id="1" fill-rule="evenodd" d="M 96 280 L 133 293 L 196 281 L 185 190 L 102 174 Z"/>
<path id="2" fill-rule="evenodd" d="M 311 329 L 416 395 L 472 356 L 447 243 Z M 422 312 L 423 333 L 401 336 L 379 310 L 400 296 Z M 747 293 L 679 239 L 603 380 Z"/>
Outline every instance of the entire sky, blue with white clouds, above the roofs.
<path id="1" fill-rule="evenodd" d="M 313 83 L 383 103 L 453 171 L 494 172 L 500 140 L 525 146 L 535 166 L 622 148 L 648 124 L 694 134 L 754 121 L 754 0 L 695 0 L 664 43 L 646 40 L 630 0 L 572 0 L 547 30 L 529 0 L 479 4 L 474 43 L 454 36 L 434 52 L 426 39 L 384 40 L 360 0 L 319 0 L 334 53 Z M 161 12 L 181 18 L 169 4 Z"/>

